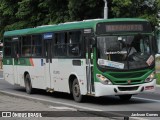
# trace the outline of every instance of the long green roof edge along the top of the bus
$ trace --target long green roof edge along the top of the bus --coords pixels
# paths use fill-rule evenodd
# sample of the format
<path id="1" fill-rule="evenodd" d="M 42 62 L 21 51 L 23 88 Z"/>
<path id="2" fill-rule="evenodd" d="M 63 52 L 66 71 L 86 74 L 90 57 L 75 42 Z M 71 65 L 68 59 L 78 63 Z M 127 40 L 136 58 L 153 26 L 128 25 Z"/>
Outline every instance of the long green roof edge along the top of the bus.
<path id="1" fill-rule="evenodd" d="M 35 28 L 27 28 L 13 31 L 6 31 L 4 37 L 9 36 L 21 36 L 37 33 L 46 33 L 53 31 L 71 30 L 71 29 L 83 29 L 83 28 L 95 28 L 99 22 L 118 22 L 118 21 L 146 21 L 140 18 L 114 18 L 114 19 L 91 19 L 84 21 L 66 22 L 54 25 L 44 25 Z"/>

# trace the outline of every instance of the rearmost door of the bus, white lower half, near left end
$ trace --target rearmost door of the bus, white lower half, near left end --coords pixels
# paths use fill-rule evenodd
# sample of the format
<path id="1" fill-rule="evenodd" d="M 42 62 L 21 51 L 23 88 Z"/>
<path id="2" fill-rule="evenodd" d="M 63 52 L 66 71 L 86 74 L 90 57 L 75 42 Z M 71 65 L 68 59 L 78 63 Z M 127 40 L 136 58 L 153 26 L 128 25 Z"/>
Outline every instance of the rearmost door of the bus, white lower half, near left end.
<path id="1" fill-rule="evenodd" d="M 18 59 L 19 59 L 19 42 L 18 40 L 12 41 L 12 50 L 11 56 L 13 61 L 13 76 L 14 76 L 14 84 L 20 84 L 19 77 L 18 77 Z"/>

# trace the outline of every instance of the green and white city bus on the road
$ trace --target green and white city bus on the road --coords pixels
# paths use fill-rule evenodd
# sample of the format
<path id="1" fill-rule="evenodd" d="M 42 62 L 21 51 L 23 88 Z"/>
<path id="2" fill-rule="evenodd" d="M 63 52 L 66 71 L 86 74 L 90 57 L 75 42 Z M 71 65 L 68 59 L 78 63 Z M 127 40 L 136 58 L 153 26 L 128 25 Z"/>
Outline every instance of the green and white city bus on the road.
<path id="1" fill-rule="evenodd" d="M 155 90 L 156 41 L 147 20 L 96 19 L 6 31 L 4 79 L 11 84 L 83 96 Z"/>

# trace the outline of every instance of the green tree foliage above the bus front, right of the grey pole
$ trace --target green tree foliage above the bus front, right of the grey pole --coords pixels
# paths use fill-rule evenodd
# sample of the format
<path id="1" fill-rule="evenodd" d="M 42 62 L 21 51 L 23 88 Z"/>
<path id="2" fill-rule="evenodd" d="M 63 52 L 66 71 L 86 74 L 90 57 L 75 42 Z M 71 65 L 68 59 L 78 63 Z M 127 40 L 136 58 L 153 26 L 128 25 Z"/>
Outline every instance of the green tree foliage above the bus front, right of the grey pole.
<path id="1" fill-rule="evenodd" d="M 157 2 L 159 0 L 113 0 L 112 13 L 114 17 L 138 17 L 157 24 Z"/>

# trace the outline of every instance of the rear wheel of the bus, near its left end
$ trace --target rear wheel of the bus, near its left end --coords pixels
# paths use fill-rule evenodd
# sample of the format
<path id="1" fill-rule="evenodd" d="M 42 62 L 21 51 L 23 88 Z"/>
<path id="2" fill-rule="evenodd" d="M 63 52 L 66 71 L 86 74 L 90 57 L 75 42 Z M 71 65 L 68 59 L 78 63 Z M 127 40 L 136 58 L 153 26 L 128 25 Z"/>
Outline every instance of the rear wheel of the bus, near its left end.
<path id="1" fill-rule="evenodd" d="M 25 88 L 26 88 L 26 92 L 28 94 L 32 94 L 33 93 L 33 88 L 32 88 L 32 83 L 31 83 L 31 78 L 30 78 L 30 75 L 27 74 L 25 76 Z"/>

